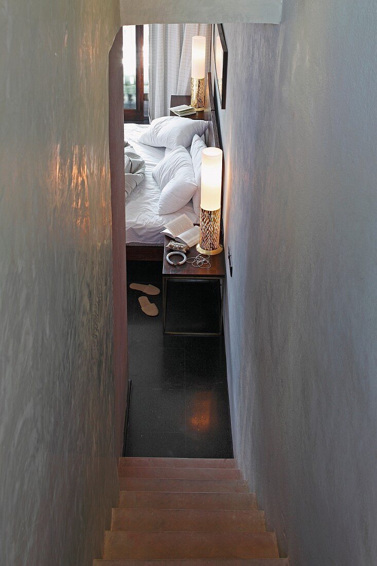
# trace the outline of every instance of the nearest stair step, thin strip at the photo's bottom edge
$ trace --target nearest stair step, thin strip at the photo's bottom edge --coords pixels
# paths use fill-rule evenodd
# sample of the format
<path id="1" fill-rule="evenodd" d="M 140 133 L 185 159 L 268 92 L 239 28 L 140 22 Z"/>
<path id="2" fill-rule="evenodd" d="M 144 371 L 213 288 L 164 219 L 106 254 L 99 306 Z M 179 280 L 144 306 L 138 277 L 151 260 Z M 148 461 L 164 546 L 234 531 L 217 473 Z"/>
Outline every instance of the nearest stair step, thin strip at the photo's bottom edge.
<path id="1" fill-rule="evenodd" d="M 289 566 L 288 558 L 245 560 L 95 560 L 93 566 Z"/>

